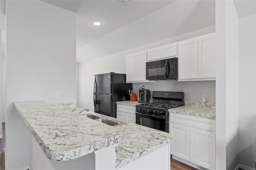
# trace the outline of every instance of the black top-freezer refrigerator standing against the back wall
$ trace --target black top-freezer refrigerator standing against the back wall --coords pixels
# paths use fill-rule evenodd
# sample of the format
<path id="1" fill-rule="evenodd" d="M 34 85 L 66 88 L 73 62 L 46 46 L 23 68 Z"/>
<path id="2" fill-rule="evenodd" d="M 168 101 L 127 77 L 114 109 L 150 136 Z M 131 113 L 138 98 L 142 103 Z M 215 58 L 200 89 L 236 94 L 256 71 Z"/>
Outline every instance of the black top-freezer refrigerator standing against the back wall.
<path id="1" fill-rule="evenodd" d="M 132 90 L 132 83 L 126 83 L 126 74 L 95 75 L 94 112 L 116 117 L 116 102 L 130 100 L 129 89 Z"/>

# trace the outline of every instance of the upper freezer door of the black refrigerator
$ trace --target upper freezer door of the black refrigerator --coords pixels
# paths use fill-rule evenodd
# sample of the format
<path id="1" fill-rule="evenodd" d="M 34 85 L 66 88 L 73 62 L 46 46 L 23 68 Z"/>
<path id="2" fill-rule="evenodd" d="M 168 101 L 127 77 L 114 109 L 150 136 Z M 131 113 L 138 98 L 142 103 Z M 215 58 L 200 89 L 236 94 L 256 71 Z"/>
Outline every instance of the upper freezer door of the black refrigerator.
<path id="1" fill-rule="evenodd" d="M 111 94 L 111 73 L 95 75 L 94 93 Z"/>

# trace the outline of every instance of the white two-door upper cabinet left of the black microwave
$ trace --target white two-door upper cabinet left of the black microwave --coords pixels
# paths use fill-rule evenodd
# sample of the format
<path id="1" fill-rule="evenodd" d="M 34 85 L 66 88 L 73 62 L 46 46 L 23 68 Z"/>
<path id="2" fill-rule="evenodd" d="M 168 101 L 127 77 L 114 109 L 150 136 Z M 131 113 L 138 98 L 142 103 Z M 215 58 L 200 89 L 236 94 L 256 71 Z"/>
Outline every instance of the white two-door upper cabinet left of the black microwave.
<path id="1" fill-rule="evenodd" d="M 126 55 L 126 82 L 155 82 L 146 80 L 146 51 Z"/>

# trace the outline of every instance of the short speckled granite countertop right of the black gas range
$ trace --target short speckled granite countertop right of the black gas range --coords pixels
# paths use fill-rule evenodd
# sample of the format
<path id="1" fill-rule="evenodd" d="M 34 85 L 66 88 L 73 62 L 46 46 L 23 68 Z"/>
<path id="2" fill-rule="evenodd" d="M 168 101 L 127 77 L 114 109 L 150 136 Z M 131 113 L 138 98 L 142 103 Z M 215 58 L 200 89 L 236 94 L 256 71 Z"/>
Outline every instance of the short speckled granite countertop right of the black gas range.
<path id="1" fill-rule="evenodd" d="M 215 119 L 215 104 L 201 102 L 185 102 L 185 106 L 168 109 L 172 113 L 195 115 Z"/>

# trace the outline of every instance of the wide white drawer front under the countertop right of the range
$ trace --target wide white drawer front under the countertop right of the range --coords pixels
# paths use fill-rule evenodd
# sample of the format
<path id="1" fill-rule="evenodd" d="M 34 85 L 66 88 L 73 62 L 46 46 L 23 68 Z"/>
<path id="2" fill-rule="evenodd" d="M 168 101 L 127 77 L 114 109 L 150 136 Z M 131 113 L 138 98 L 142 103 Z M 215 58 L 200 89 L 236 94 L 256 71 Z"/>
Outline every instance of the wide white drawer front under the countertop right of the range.
<path id="1" fill-rule="evenodd" d="M 170 113 L 170 122 L 215 132 L 215 120 Z"/>

